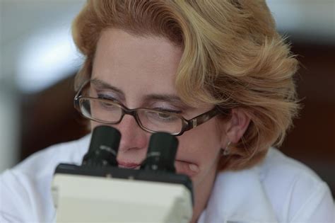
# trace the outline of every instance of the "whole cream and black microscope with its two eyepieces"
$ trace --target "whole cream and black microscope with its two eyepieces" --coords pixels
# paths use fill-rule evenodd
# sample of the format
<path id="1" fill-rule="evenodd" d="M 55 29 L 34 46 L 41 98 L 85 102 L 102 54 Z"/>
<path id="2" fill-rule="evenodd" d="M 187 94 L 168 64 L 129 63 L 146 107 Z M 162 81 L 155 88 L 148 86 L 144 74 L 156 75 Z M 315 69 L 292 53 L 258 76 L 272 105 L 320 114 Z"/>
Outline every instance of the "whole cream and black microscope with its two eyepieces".
<path id="1" fill-rule="evenodd" d="M 57 222 L 188 223 L 192 181 L 175 173 L 177 138 L 153 133 L 139 169 L 118 167 L 120 139 L 113 127 L 98 126 L 81 166 L 57 166 L 52 181 Z"/>

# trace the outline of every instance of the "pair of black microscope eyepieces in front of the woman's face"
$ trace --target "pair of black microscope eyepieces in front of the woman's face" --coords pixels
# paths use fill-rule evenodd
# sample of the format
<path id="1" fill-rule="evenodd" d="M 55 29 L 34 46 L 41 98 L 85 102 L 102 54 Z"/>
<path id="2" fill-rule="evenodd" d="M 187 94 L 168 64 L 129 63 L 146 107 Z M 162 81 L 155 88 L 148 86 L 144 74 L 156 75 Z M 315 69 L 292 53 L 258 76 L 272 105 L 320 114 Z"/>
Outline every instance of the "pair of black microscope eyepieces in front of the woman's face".
<path id="1" fill-rule="evenodd" d="M 87 154 L 83 157 L 83 166 L 118 166 L 117 152 L 121 133 L 114 127 L 100 125 L 95 127 Z M 175 156 L 178 139 L 166 132 L 151 135 L 146 159 L 141 169 L 167 171 L 175 173 Z"/>

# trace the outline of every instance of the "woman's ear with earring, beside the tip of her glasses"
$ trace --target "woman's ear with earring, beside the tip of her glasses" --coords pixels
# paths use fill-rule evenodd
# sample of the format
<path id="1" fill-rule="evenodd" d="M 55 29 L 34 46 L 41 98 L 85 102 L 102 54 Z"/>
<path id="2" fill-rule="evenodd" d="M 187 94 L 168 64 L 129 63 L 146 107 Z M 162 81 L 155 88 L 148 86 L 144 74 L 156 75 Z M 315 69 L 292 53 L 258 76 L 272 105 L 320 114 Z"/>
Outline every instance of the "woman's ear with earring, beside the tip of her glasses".
<path id="1" fill-rule="evenodd" d="M 230 120 L 225 125 L 226 141 L 237 143 L 245 134 L 249 126 L 250 118 L 247 112 L 242 108 L 233 108 Z M 226 144 L 227 142 L 225 142 Z M 223 147 L 225 148 L 225 147 Z"/>

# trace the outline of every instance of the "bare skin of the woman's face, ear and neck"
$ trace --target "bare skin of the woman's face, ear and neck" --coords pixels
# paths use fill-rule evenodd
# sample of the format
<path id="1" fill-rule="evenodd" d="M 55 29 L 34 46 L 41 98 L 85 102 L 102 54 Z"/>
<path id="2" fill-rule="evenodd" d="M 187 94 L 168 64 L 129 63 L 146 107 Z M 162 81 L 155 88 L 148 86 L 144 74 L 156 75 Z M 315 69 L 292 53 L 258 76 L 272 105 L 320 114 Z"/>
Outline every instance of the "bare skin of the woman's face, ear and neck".
<path id="1" fill-rule="evenodd" d="M 92 79 L 100 83 L 93 94 L 103 93 L 127 108 L 163 108 L 180 112 L 184 118 L 194 118 L 213 108 L 199 104 L 191 108 L 178 98 L 175 74 L 182 49 L 165 38 L 139 37 L 119 29 L 102 32 L 93 62 Z M 159 96 L 159 97 L 157 97 Z M 184 132 L 178 137 L 175 167 L 187 174 L 194 185 L 196 222 L 206 208 L 216 177 L 221 148 L 237 142 L 249 119 L 242 110 L 233 110 L 233 118 L 223 122 L 217 117 Z M 100 125 L 91 122 L 91 127 Z M 151 133 L 142 130 L 131 115 L 125 115 L 118 125 L 122 134 L 117 161 L 119 166 L 134 167 L 146 156 Z"/>

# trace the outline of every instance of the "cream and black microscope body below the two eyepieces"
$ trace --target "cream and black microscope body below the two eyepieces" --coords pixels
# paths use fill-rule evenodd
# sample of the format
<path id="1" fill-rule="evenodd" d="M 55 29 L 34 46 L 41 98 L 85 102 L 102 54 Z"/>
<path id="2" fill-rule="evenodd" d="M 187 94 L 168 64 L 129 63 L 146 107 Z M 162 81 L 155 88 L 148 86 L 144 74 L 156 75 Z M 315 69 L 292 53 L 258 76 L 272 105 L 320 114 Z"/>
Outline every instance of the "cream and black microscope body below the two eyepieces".
<path id="1" fill-rule="evenodd" d="M 83 164 L 93 165 L 59 164 L 52 181 L 57 222 L 188 223 L 192 181 L 174 171 L 153 170 L 156 164 L 148 168 L 154 161 L 147 161 L 138 170 L 89 161 Z"/>

